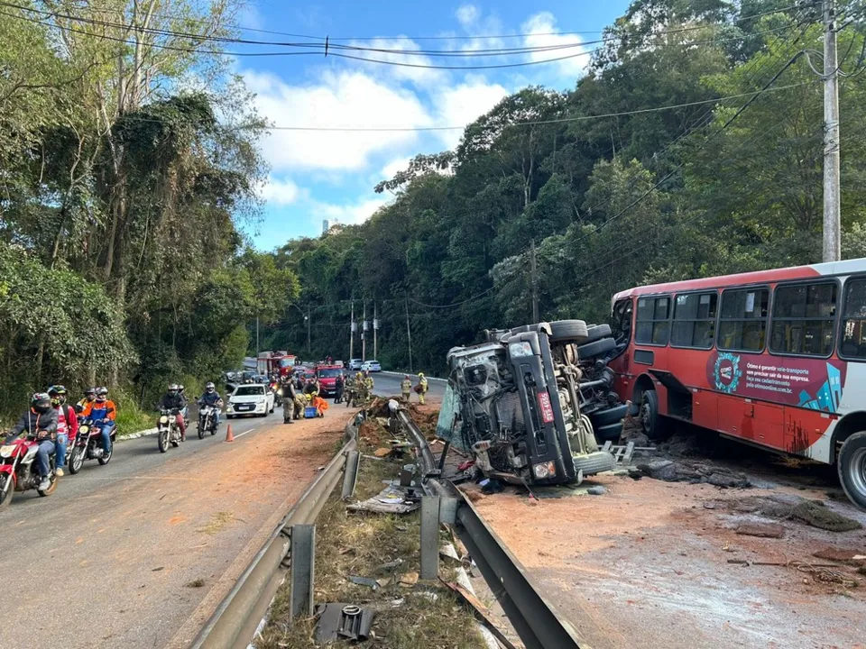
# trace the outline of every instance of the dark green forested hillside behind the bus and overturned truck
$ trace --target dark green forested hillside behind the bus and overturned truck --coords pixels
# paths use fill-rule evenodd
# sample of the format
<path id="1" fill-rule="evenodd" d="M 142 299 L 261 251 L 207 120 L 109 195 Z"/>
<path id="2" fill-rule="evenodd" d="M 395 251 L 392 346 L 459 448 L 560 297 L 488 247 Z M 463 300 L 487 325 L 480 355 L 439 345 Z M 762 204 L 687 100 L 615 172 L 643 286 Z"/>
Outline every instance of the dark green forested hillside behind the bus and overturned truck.
<path id="1" fill-rule="evenodd" d="M 635 0 L 573 90 L 527 87 L 375 187 L 364 224 L 289 242 L 299 304 L 274 346 L 443 370 L 484 328 L 604 322 L 644 283 L 821 261 L 821 3 Z M 843 256 L 866 256 L 862 11 L 840 3 Z M 535 272 L 532 272 L 533 267 Z M 407 326 L 407 320 L 409 326 Z M 368 338 L 368 358 L 372 345 Z M 355 355 L 359 350 L 357 339 Z"/>

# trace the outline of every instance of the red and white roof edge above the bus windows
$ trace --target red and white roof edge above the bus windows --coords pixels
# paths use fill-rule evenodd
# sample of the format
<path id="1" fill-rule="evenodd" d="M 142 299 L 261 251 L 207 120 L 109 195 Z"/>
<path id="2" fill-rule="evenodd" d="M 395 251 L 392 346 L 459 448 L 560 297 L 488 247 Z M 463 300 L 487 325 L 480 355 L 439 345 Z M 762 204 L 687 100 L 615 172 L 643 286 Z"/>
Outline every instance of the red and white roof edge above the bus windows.
<path id="1" fill-rule="evenodd" d="M 628 288 L 613 296 L 613 302 L 626 297 L 653 295 L 656 293 L 677 293 L 701 288 L 725 288 L 742 286 L 748 284 L 769 284 L 786 279 L 809 279 L 831 275 L 852 275 L 853 273 L 866 272 L 866 259 L 847 261 L 830 261 L 828 263 L 812 264 L 810 266 L 792 266 L 784 269 L 755 270 L 736 275 L 721 275 L 719 277 L 686 279 L 665 284 L 651 284 Z"/>

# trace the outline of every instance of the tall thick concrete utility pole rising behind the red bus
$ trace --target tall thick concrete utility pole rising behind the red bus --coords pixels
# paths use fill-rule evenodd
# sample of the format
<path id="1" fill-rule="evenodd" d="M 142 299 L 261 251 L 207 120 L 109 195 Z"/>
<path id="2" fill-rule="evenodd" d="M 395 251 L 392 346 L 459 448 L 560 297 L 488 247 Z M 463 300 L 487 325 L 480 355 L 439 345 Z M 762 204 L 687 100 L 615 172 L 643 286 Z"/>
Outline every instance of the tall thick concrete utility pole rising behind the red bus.
<path id="1" fill-rule="evenodd" d="M 841 257 L 841 191 L 839 188 L 839 69 L 836 62 L 834 0 L 824 0 L 824 257 Z"/>

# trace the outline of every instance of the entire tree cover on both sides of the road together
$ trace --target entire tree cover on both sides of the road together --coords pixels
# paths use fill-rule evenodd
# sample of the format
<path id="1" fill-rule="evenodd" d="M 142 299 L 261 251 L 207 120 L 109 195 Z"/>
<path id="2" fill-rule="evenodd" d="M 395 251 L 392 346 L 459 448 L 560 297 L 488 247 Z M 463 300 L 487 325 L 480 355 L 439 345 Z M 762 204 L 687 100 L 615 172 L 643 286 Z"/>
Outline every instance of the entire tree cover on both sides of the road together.
<path id="1" fill-rule="evenodd" d="M 866 256 L 866 50 L 841 5 L 843 252 Z M 367 222 L 276 251 L 244 236 L 268 124 L 224 54 L 239 10 L 0 8 L 0 414 L 58 381 L 146 405 L 235 367 L 256 319 L 262 349 L 346 358 L 366 301 L 382 363 L 408 368 L 411 335 L 435 371 L 533 294 L 597 322 L 621 288 L 820 260 L 819 3 L 635 0 L 572 89 L 506 97 L 382 178 Z"/>

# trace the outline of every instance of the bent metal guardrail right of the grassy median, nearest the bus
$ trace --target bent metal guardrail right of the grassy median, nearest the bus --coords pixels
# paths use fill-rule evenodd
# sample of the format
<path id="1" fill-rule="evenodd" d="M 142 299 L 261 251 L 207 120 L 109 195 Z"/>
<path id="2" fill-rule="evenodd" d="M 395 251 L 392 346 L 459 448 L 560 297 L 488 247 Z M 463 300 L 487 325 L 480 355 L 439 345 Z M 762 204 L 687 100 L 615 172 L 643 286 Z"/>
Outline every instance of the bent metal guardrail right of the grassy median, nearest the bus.
<path id="1" fill-rule="evenodd" d="M 408 411 L 396 401 L 392 400 L 389 408 L 418 448 L 422 475 L 436 476 L 438 469 L 424 434 L 412 421 Z M 457 489 L 453 482 L 436 478 L 427 481 L 425 490 L 456 498 L 457 535 L 465 544 L 526 648 L 579 649 L 580 645 L 577 644 L 577 636 L 572 626 L 559 617 L 556 609 L 541 597 L 521 562 L 511 555 L 499 536 L 487 526 L 464 493 Z"/>

